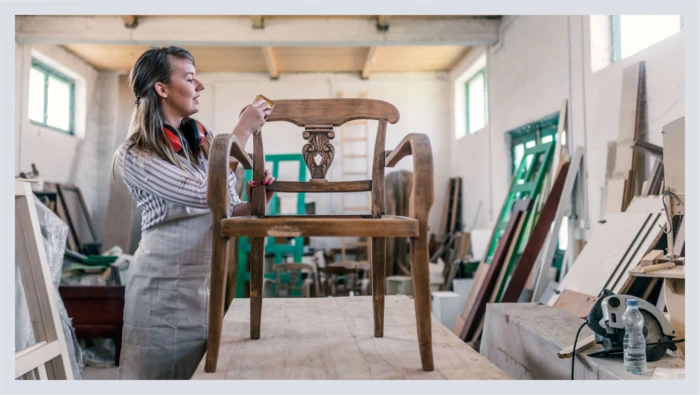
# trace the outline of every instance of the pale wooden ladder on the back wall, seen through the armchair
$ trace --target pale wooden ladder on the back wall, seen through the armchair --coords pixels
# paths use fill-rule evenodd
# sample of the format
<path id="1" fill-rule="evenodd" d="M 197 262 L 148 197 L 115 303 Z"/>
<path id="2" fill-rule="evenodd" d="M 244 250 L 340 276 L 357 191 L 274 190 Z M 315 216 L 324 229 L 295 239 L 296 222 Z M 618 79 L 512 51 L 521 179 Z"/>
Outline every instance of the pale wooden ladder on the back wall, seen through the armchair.
<path id="1" fill-rule="evenodd" d="M 362 92 L 362 98 L 366 99 L 367 98 L 367 91 Z M 338 92 L 338 97 L 343 98 L 345 97 L 345 93 L 343 91 Z M 353 135 L 351 137 L 347 136 L 347 131 L 346 131 L 346 126 L 350 125 L 360 125 L 364 126 L 363 128 L 363 135 L 361 136 L 356 136 Z M 347 122 L 340 127 L 340 174 L 341 174 L 341 180 L 342 181 L 354 181 L 354 180 L 368 180 L 372 178 L 372 169 L 370 168 L 370 156 L 369 156 L 369 121 L 367 120 L 356 120 L 356 121 L 350 121 Z M 359 144 L 364 143 L 364 150 L 362 153 L 359 154 L 347 154 L 346 153 L 346 147 L 348 144 L 351 146 L 357 146 Z M 345 163 L 346 159 L 364 159 L 365 160 L 365 171 L 349 168 L 347 164 Z M 372 207 L 370 206 L 370 194 L 369 192 L 363 192 L 363 194 L 366 196 L 365 204 L 364 205 L 350 205 L 348 204 L 347 200 L 345 199 L 345 194 L 340 195 L 340 213 L 342 215 L 349 215 L 349 214 L 367 214 L 371 212 Z M 349 241 L 347 238 L 342 237 L 340 239 L 341 243 L 341 248 L 340 248 L 340 261 L 341 262 L 347 262 L 347 253 L 346 250 L 348 248 L 365 248 L 365 251 L 369 251 L 369 238 L 365 238 L 364 240 L 359 240 L 359 241 Z"/>

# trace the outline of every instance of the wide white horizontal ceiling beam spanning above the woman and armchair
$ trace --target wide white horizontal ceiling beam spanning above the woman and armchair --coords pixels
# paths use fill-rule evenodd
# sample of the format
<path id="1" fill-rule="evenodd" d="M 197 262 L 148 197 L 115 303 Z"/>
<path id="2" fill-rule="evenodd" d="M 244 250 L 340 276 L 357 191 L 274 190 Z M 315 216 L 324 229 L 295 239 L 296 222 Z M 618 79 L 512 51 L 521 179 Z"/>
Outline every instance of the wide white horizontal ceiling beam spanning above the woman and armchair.
<path id="1" fill-rule="evenodd" d="M 494 44 L 500 26 L 498 19 L 461 16 L 393 18 L 389 31 L 378 30 L 376 19 L 356 17 L 275 18 L 266 22 L 264 29 L 254 30 L 251 29 L 249 16 L 139 16 L 139 27 L 128 29 L 120 16 L 18 15 L 15 17 L 15 38 L 20 44 L 92 43 L 183 47 L 479 46 Z M 188 28 L 173 29 L 173 26 Z"/>

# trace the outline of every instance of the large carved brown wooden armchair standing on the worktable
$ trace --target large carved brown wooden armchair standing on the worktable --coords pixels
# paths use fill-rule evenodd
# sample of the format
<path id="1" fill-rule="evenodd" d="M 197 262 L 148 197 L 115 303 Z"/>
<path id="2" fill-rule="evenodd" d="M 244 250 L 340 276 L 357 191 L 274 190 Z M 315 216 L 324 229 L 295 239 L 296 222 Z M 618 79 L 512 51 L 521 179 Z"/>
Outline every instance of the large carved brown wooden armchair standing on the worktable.
<path id="1" fill-rule="evenodd" d="M 326 172 L 335 150 L 330 143 L 334 127 L 356 119 L 377 120 L 372 179 L 330 182 Z M 275 181 L 253 188 L 249 199 L 252 215 L 229 217 L 227 175 L 231 156 L 246 169 L 253 169 L 253 179 L 265 172 L 263 135 L 253 136 L 252 159 L 232 134 L 214 139 L 209 157 L 207 199 L 212 218 L 211 293 L 209 303 L 209 339 L 205 371 L 216 371 L 221 341 L 226 289 L 226 245 L 231 237 L 250 237 L 250 337 L 260 338 L 263 299 L 263 260 L 265 237 L 357 237 L 371 238 L 372 300 L 374 336 L 384 335 L 384 287 L 386 237 L 410 237 L 412 276 L 418 345 L 422 368 L 433 370 L 430 273 L 428 263 L 428 212 L 433 204 L 433 157 L 430 140 L 425 134 L 407 135 L 393 151 L 385 151 L 387 124 L 395 124 L 399 112 L 393 105 L 371 99 L 279 100 L 267 122 L 286 121 L 303 127 L 304 161 L 311 173 L 309 182 Z M 408 217 L 384 215 L 384 168 L 394 167 L 406 156 L 413 156 L 413 189 Z M 275 192 L 366 192 L 371 191 L 370 215 L 265 216 L 265 189 Z"/>

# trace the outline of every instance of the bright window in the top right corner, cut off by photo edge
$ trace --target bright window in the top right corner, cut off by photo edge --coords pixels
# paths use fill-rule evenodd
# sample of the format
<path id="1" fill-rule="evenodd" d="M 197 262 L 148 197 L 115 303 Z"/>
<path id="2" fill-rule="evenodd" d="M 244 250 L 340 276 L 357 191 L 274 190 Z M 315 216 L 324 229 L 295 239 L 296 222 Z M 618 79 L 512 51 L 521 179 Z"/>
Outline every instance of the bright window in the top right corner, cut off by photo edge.
<path id="1" fill-rule="evenodd" d="M 680 15 L 613 15 L 614 61 L 624 59 L 681 31 Z"/>

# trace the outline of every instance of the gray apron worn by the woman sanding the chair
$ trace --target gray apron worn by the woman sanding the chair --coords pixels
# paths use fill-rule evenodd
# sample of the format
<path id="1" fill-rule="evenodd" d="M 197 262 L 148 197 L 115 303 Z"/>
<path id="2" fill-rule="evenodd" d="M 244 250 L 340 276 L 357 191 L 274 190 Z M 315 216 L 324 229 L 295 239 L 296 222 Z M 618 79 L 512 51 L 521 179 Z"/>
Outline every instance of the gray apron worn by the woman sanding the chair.
<path id="1" fill-rule="evenodd" d="M 211 215 L 167 203 L 127 272 L 119 378 L 190 379 L 207 343 Z"/>

